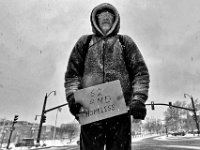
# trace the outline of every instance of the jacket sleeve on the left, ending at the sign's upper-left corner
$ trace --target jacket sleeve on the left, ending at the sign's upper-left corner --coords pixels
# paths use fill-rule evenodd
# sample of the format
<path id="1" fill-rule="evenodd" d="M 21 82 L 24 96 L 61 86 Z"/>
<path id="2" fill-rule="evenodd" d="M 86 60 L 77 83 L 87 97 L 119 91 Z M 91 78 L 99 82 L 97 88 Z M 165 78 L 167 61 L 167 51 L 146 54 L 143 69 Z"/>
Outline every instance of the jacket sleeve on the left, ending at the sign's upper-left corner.
<path id="1" fill-rule="evenodd" d="M 66 99 L 76 90 L 80 89 L 81 79 L 84 70 L 84 60 L 85 60 L 84 43 L 86 42 L 86 39 L 87 35 L 82 36 L 76 42 L 70 54 L 67 65 L 67 71 L 65 73 L 65 83 L 64 83 Z"/>

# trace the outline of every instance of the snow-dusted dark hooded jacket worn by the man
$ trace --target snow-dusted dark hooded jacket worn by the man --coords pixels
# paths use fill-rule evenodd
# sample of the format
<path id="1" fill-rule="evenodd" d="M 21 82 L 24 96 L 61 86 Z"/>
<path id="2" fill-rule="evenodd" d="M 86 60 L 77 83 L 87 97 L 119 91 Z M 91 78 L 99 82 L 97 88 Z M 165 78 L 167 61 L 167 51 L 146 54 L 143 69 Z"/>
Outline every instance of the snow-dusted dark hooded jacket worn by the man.
<path id="1" fill-rule="evenodd" d="M 104 34 L 98 26 L 97 14 L 104 10 L 114 14 L 111 29 Z M 133 40 L 123 35 L 125 48 L 119 42 L 120 16 L 115 7 L 104 3 L 92 10 L 90 21 L 93 36 L 88 50 L 83 48 L 88 35 L 75 44 L 65 74 L 66 97 L 78 89 L 120 80 L 126 104 L 133 99 L 143 103 L 148 98 L 149 73 L 144 59 Z M 124 51 L 123 51 L 124 50 Z"/>

